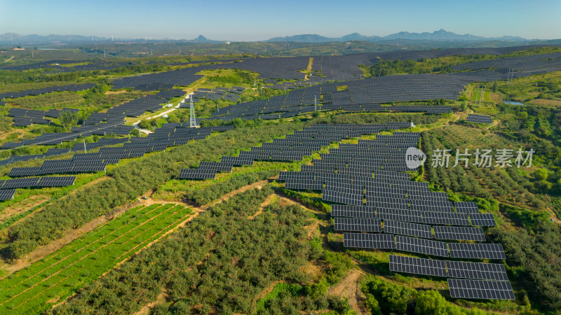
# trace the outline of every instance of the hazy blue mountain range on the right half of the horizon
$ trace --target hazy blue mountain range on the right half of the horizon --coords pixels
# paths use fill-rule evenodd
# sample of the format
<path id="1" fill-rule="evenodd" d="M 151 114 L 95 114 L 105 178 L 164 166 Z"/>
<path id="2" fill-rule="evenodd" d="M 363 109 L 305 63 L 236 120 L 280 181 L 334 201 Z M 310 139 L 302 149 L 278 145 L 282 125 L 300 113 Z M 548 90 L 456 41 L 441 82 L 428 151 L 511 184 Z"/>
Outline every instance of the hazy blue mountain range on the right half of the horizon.
<path id="1" fill-rule="evenodd" d="M 502 36 L 502 37 L 482 37 L 475 36 L 471 34 L 456 34 L 452 31 L 445 31 L 444 29 L 439 29 L 438 31 L 433 31 L 432 33 L 410 33 L 408 31 L 400 31 L 396 34 L 391 34 L 388 36 L 364 36 L 358 33 L 353 33 L 345 35 L 342 37 L 325 37 L 316 34 L 304 34 L 295 36 L 285 36 L 285 37 L 274 37 L 266 40 L 271 41 L 293 41 L 301 43 L 325 43 L 330 41 L 391 41 L 396 39 L 407 39 L 407 40 L 419 40 L 419 41 L 528 41 L 526 38 L 518 36 Z"/>

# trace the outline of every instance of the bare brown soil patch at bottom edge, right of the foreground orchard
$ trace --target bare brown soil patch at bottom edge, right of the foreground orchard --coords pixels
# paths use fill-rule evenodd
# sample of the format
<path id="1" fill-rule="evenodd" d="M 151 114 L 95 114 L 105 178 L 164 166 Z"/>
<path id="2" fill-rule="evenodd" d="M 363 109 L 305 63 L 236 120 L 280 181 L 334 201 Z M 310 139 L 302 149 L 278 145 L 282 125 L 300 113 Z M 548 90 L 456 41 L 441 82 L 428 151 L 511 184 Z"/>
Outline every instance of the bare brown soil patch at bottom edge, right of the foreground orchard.
<path id="1" fill-rule="evenodd" d="M 349 305 L 358 314 L 369 314 L 365 304 L 366 297 L 360 290 L 360 279 L 362 279 L 363 274 L 364 272 L 360 269 L 352 269 L 339 284 L 330 288 L 327 294 L 346 297 L 349 300 Z"/>

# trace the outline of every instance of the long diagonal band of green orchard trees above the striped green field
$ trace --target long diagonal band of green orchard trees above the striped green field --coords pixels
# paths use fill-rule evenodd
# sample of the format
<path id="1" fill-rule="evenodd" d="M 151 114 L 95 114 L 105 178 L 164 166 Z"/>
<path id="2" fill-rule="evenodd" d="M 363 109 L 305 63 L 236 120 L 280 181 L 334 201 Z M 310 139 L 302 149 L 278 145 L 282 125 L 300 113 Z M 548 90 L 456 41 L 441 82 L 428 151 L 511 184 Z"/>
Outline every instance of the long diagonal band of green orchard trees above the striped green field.
<path id="1" fill-rule="evenodd" d="M 256 130 L 236 128 L 116 167 L 109 173 L 111 178 L 107 181 L 57 200 L 32 218 L 13 225 L 8 232 L 5 253 L 9 258 L 21 258 L 37 246 L 63 237 L 67 230 L 79 228 L 114 207 L 135 200 L 147 190 L 158 188 L 179 174 L 182 168 L 196 167 L 201 160 L 234 155 L 241 149 L 301 128 L 302 123 L 267 125 Z"/>

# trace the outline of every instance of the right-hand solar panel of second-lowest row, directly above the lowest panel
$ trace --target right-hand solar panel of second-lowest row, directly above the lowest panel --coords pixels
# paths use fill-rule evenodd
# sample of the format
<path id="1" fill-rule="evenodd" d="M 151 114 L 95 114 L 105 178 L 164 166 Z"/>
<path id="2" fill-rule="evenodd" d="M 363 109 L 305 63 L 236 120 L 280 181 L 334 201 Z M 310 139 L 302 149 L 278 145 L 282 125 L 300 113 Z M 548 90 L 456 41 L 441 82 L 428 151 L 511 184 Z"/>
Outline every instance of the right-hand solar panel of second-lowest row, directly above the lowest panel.
<path id="1" fill-rule="evenodd" d="M 450 278 L 508 280 L 503 264 L 447 261 L 446 268 Z"/>

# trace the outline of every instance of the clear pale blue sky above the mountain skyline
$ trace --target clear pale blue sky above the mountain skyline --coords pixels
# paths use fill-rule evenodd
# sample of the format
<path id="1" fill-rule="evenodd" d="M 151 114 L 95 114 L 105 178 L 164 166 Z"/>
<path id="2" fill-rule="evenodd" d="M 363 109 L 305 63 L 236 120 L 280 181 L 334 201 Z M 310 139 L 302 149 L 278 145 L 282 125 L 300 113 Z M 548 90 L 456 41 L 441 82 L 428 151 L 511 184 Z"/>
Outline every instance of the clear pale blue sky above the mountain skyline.
<path id="1" fill-rule="evenodd" d="M 0 0 L 0 34 L 261 41 L 274 36 L 446 29 L 561 38 L 561 0 Z"/>

